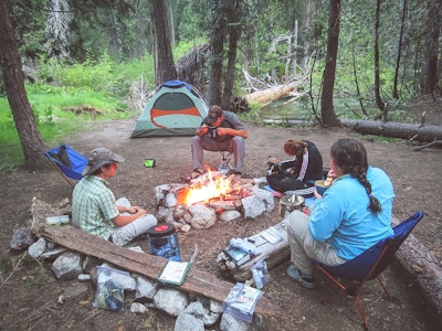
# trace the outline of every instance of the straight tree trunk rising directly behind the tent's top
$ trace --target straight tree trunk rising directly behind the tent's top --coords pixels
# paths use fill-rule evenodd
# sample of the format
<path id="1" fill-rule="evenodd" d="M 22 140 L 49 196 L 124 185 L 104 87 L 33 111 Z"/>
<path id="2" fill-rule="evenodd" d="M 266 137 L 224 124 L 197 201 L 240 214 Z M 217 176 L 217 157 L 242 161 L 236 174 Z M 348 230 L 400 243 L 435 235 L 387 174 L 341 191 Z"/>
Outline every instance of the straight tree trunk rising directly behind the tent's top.
<path id="1" fill-rule="evenodd" d="M 164 0 L 150 0 L 150 21 L 154 40 L 155 84 L 158 86 L 177 78 Z"/>

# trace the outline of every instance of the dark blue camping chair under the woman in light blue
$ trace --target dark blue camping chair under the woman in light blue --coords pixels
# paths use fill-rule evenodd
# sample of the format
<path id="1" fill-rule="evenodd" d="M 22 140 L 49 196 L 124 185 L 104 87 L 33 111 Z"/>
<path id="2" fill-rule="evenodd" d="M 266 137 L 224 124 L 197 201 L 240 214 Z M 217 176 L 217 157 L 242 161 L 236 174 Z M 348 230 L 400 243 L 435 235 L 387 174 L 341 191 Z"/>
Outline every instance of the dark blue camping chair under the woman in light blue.
<path id="1" fill-rule="evenodd" d="M 347 293 L 355 297 L 360 316 L 362 318 L 362 325 L 366 330 L 368 330 L 368 323 L 359 298 L 359 290 L 362 288 L 366 281 L 376 278 L 378 279 L 387 297 L 390 299 L 390 295 L 379 278 L 379 275 L 387 268 L 392 260 L 394 253 L 399 249 L 403 241 L 408 237 L 418 222 L 422 220 L 422 212 L 414 213 L 408 220 L 393 227 L 393 235 L 380 241 L 372 247 L 361 253 L 359 256 L 346 261 L 343 265 L 330 267 L 314 260 L 319 270 L 323 271 L 343 290 L 341 293 Z M 338 277 L 352 281 L 352 285 L 345 286 L 338 280 Z"/>

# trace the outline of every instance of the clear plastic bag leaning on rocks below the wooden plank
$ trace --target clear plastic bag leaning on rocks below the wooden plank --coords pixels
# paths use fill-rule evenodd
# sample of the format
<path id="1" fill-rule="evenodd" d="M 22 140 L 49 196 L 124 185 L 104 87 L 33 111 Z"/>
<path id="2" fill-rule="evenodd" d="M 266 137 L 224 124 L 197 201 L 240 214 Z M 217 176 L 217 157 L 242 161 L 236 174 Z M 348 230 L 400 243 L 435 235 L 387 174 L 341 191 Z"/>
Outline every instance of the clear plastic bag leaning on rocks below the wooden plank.
<path id="1" fill-rule="evenodd" d="M 130 274 L 104 266 L 97 266 L 97 291 L 92 306 L 122 311 L 124 309 L 124 287 L 120 280 L 126 277 L 131 278 Z"/>

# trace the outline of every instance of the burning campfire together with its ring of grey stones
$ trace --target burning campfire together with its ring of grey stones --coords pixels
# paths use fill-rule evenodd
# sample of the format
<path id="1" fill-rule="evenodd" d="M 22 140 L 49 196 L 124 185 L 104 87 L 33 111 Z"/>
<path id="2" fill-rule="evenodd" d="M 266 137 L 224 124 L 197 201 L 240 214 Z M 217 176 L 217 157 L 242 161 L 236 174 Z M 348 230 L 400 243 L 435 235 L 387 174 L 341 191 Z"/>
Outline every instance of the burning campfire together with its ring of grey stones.
<path id="1" fill-rule="evenodd" d="M 210 228 L 218 220 L 256 218 L 274 209 L 273 195 L 253 180 L 236 180 L 217 171 L 190 184 L 164 184 L 155 189 L 159 222 L 178 229 Z"/>

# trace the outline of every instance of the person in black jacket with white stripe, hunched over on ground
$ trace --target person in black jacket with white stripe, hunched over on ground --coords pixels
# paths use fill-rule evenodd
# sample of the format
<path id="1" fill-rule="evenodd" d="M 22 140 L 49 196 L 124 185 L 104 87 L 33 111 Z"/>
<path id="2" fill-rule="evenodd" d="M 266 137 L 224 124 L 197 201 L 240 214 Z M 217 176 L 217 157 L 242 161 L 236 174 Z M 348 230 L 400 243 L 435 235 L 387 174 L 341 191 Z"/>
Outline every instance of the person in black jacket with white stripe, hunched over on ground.
<path id="1" fill-rule="evenodd" d="M 302 139 L 284 143 L 291 160 L 275 163 L 267 173 L 269 185 L 282 193 L 313 196 L 315 181 L 323 179 L 323 157 L 316 145 Z"/>

